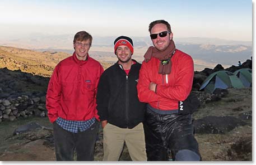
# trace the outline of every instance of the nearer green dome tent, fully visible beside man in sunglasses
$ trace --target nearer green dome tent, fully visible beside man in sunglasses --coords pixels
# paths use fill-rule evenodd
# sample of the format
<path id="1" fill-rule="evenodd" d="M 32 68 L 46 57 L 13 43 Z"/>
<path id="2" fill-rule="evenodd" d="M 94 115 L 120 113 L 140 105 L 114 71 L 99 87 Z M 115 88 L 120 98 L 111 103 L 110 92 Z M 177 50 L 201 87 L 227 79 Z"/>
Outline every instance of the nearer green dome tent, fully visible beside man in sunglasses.
<path id="1" fill-rule="evenodd" d="M 216 71 L 203 81 L 201 88 L 207 93 L 213 93 L 216 88 L 227 89 L 227 88 L 245 88 L 240 79 L 229 71 Z"/>

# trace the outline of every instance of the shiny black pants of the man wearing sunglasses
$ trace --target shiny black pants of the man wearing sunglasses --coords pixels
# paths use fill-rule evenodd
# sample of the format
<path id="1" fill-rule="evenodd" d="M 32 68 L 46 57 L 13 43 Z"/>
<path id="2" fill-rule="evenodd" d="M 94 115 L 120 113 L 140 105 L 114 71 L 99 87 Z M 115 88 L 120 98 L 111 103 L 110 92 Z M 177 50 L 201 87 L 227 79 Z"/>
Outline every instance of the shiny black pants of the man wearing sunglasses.
<path id="1" fill-rule="evenodd" d="M 144 129 L 148 161 L 167 161 L 168 149 L 174 160 L 179 152 L 177 156 L 179 155 L 179 159 L 182 159 L 180 161 L 199 161 L 198 143 L 193 135 L 190 114 L 161 115 L 147 109 L 145 118 Z"/>

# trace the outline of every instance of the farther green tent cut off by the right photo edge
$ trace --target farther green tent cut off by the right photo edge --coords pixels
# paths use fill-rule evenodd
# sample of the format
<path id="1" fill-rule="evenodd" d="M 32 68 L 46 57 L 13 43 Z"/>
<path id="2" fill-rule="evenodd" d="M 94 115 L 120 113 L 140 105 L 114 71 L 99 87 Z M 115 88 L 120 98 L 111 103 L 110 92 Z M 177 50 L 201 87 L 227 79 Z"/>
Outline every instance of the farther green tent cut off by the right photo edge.
<path id="1" fill-rule="evenodd" d="M 252 87 L 252 69 L 243 68 L 234 72 L 238 76 L 245 87 Z"/>

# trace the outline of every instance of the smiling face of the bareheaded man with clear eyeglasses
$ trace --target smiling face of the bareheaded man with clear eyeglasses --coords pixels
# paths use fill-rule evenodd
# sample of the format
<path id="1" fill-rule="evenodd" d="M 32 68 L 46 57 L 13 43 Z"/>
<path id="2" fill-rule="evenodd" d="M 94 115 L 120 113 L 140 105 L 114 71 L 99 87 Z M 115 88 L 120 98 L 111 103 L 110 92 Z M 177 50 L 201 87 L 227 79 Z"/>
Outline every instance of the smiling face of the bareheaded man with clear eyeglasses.
<path id="1" fill-rule="evenodd" d="M 78 60 L 86 60 L 88 51 L 90 50 L 90 40 L 76 41 L 73 44 L 75 48 L 76 57 Z"/>

